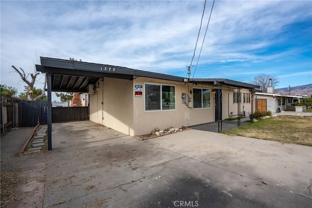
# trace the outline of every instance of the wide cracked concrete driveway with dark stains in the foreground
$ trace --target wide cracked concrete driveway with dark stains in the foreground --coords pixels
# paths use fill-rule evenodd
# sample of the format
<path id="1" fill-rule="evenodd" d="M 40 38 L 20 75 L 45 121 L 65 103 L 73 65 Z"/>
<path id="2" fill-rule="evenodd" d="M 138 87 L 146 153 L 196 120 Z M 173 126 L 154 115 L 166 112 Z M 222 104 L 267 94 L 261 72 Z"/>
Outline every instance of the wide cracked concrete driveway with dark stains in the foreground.
<path id="1" fill-rule="evenodd" d="M 52 140 L 32 156 L 44 208 L 312 204 L 312 147 L 198 130 L 139 141 L 90 121 L 53 124 Z"/>

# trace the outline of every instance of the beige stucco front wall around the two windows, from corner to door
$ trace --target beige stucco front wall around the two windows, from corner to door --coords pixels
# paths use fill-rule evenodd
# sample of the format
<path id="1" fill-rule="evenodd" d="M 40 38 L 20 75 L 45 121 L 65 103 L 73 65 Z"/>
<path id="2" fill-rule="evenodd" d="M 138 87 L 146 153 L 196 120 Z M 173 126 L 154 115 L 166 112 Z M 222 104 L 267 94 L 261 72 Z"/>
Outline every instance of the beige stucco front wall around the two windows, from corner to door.
<path id="1" fill-rule="evenodd" d="M 166 84 L 176 86 L 176 110 L 167 111 L 145 111 L 145 83 L 153 84 Z M 156 127 L 165 129 L 168 127 L 180 128 L 182 126 L 192 126 L 196 124 L 208 123 L 214 121 L 214 108 L 213 108 L 213 94 L 212 87 L 196 85 L 196 88 L 205 88 L 211 90 L 211 108 L 193 109 L 188 108 L 185 104 L 181 103 L 181 94 L 187 93 L 189 90 L 193 91 L 193 85 L 184 82 L 166 81 L 154 78 L 137 77 L 134 85 L 143 86 L 143 96 L 134 98 L 134 129 L 135 134 L 150 133 Z M 192 95 L 191 95 L 192 97 Z M 192 97 L 193 102 L 193 97 Z"/>

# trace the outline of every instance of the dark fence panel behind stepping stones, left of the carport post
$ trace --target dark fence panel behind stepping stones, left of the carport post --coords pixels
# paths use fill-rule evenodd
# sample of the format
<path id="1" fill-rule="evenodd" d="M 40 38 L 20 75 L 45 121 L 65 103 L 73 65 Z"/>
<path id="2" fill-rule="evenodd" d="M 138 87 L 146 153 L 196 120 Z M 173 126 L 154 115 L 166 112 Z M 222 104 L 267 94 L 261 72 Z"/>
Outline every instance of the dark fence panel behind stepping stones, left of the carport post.
<path id="1" fill-rule="evenodd" d="M 46 100 L 19 100 L 19 127 L 34 127 L 47 124 Z"/>

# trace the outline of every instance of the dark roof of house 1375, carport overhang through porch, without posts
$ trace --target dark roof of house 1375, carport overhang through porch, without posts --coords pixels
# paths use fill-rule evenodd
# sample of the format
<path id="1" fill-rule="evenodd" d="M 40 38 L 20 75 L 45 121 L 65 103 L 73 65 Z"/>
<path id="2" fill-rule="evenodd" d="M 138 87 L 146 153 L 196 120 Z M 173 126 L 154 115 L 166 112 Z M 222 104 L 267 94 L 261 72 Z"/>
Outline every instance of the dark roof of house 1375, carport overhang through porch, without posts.
<path id="1" fill-rule="evenodd" d="M 107 64 L 71 61 L 50 57 L 40 57 L 40 61 L 41 65 L 36 65 L 36 69 L 42 73 L 51 73 L 51 91 L 54 92 L 87 92 L 88 85 L 95 84 L 103 77 L 132 80 L 138 76 L 143 76 L 179 82 L 187 81 L 187 79 L 180 76 L 165 75 Z M 253 84 L 220 78 L 195 78 L 190 79 L 189 82 L 246 89 L 260 88 Z"/>

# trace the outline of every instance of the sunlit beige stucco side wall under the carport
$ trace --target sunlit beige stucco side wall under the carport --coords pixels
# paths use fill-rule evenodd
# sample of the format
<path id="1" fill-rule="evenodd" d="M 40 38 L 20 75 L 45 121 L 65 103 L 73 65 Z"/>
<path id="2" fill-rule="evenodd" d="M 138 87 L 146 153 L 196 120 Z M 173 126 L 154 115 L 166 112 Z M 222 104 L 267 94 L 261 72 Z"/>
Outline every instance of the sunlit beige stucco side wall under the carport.
<path id="1" fill-rule="evenodd" d="M 96 88 L 97 94 L 90 95 L 90 120 L 134 135 L 133 81 L 104 78 Z"/>

